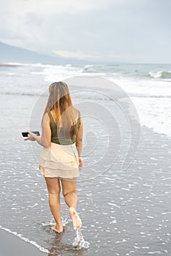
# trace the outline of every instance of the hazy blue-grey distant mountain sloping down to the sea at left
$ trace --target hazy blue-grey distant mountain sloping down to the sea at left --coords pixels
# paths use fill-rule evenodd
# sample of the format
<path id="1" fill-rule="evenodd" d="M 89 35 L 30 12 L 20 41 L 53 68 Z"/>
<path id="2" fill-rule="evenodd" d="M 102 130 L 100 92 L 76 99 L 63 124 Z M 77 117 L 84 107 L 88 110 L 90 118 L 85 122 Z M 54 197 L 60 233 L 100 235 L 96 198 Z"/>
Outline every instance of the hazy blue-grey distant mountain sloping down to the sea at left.
<path id="1" fill-rule="evenodd" d="M 21 63 L 42 63 L 42 64 L 79 64 L 80 61 L 64 59 L 59 56 L 48 56 L 42 53 L 36 53 L 12 45 L 0 42 L 0 64 L 7 62 Z M 81 61 L 82 62 L 82 61 Z"/>

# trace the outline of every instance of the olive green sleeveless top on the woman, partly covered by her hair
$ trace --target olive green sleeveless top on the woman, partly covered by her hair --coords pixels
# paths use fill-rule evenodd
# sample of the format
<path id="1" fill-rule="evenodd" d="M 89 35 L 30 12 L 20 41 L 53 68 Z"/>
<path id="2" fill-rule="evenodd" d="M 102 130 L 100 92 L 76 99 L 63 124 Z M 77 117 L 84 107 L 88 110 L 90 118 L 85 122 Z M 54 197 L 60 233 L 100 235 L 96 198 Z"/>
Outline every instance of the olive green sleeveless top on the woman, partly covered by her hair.
<path id="1" fill-rule="evenodd" d="M 58 127 L 58 135 L 57 135 L 57 127 L 56 122 L 53 119 L 52 114 L 49 112 L 48 116 L 50 118 L 50 129 L 51 129 L 51 142 L 61 145 L 69 145 L 76 142 L 77 131 L 80 128 L 80 117 L 77 119 L 77 124 L 75 124 L 75 133 L 70 139 L 64 138 L 63 128 Z"/>

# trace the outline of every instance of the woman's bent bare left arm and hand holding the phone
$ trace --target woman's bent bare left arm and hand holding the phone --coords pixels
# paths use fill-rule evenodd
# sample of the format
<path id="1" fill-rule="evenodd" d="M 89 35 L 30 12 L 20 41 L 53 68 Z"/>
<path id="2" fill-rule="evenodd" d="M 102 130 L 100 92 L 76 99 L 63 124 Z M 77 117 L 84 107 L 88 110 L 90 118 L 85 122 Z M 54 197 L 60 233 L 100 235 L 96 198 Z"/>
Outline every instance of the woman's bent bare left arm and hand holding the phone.
<path id="1" fill-rule="evenodd" d="M 37 140 L 39 145 L 48 148 L 51 143 L 51 129 L 50 129 L 50 118 L 47 114 L 45 114 L 42 121 L 42 136 L 39 137 L 35 135 L 33 132 L 28 131 L 29 136 L 25 140 Z"/>

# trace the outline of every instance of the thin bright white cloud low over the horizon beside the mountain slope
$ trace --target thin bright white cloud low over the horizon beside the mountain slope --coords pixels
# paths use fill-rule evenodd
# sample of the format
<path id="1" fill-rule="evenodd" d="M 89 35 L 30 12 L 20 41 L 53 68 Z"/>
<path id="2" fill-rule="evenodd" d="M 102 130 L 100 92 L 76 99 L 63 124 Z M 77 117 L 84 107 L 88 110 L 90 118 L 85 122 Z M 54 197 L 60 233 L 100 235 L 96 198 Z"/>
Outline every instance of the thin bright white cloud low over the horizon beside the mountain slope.
<path id="1" fill-rule="evenodd" d="M 100 56 L 89 55 L 89 54 L 81 53 L 80 51 L 71 52 L 68 50 L 53 50 L 53 53 L 64 58 L 74 58 L 74 59 L 99 59 L 100 58 Z"/>

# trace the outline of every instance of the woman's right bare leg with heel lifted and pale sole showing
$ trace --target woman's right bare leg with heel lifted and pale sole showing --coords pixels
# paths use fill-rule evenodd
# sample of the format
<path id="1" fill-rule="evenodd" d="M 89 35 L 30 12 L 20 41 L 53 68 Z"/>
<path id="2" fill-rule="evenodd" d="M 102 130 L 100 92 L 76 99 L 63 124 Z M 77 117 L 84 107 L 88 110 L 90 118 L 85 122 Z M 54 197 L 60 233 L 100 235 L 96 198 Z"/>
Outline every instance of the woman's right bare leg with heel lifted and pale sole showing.
<path id="1" fill-rule="evenodd" d="M 72 218 L 74 230 L 80 229 L 82 222 L 77 214 L 77 194 L 76 194 L 76 181 L 69 179 L 61 179 L 63 195 L 65 203 L 69 206 L 69 214 Z"/>

